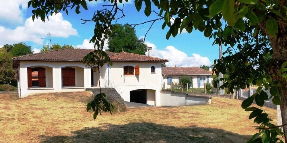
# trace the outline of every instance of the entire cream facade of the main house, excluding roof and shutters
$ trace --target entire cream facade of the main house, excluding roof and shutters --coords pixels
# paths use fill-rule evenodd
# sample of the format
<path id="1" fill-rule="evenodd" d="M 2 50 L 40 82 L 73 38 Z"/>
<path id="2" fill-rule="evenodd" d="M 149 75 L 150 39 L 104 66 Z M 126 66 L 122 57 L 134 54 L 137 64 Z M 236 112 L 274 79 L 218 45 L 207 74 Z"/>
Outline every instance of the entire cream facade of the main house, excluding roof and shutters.
<path id="1" fill-rule="evenodd" d="M 125 76 L 124 66 L 139 65 L 139 75 Z M 151 67 L 155 72 L 151 72 Z M 46 87 L 28 88 L 27 68 L 45 68 Z M 75 69 L 75 86 L 62 86 L 62 69 Z M 91 68 L 78 61 L 25 61 L 18 66 L 18 91 L 20 98 L 37 93 L 85 91 L 86 88 L 112 87 L 119 92 L 125 101 L 130 101 L 130 91 L 147 90 L 147 104 L 160 105 L 160 90 L 162 89 L 161 62 L 149 61 L 113 61 L 113 66 L 105 64 L 91 76 Z M 100 71 L 100 72 L 98 72 Z M 100 80 L 98 80 L 100 78 Z M 92 86 L 92 81 L 94 86 Z"/>

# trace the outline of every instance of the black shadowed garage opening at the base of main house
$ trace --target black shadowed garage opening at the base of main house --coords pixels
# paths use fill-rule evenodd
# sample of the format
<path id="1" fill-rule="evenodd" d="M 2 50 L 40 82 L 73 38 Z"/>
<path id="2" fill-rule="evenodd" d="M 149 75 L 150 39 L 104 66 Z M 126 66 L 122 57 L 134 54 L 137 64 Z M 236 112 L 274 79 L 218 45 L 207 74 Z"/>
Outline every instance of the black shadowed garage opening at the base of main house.
<path id="1" fill-rule="evenodd" d="M 146 104 L 147 90 L 133 90 L 129 92 L 130 102 Z"/>

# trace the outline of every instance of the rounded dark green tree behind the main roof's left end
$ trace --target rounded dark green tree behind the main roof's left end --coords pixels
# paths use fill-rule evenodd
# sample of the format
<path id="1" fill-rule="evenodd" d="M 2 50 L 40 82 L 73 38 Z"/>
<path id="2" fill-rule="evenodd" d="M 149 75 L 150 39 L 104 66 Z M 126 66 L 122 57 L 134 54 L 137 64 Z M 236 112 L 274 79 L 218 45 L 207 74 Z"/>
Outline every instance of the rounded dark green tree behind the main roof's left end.
<path id="1" fill-rule="evenodd" d="M 11 54 L 14 57 L 21 56 L 21 55 L 27 55 L 32 54 L 33 51 L 31 50 L 31 46 L 26 45 L 25 43 L 17 43 L 13 44 L 13 47 L 11 49 Z"/>

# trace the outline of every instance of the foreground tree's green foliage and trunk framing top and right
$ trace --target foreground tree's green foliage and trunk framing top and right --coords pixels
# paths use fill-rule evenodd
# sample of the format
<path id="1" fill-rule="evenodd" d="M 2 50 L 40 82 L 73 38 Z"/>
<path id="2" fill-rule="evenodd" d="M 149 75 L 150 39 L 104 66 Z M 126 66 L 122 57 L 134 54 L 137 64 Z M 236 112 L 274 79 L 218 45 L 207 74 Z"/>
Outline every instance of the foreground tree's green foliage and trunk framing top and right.
<path id="1" fill-rule="evenodd" d="M 75 9 L 79 14 L 80 7 L 88 9 L 86 2 L 89 1 L 92 0 L 32 0 L 28 2 L 28 6 L 32 5 L 34 8 L 33 20 L 40 17 L 44 21 L 48 14 L 60 11 L 68 14 L 68 10 Z M 96 50 L 84 57 L 83 61 L 86 63 L 87 60 L 87 65 L 102 66 L 110 62 L 109 57 L 102 51 L 104 40 L 113 31 L 112 21 L 124 14 L 117 6 L 122 0 L 108 1 L 111 3 L 110 9 L 96 10 L 90 20 L 84 20 L 84 23 L 96 23 L 94 36 L 90 40 L 95 42 Z M 149 21 L 152 22 L 151 25 L 156 20 L 164 19 L 161 28 L 169 29 L 167 39 L 170 36 L 175 37 L 183 29 L 189 33 L 198 30 L 203 32 L 205 37 L 213 38 L 214 44 L 228 46 L 224 57 L 214 61 L 215 74 L 225 74 L 226 71 L 229 74 L 228 77 L 220 79 L 224 81 L 220 88 L 228 88 L 228 92 L 233 93 L 234 86 L 246 88 L 250 83 L 259 86 L 257 93 L 242 103 L 242 108 L 252 111 L 249 119 L 255 118 L 254 123 L 259 124 L 259 132 L 248 142 L 283 142 L 277 138 L 278 135 L 284 135 L 287 142 L 286 134 L 279 128 L 281 126 L 272 124 L 268 114 L 259 108 L 249 107 L 253 100 L 257 105 L 263 106 L 264 100 L 273 98 L 272 102 L 280 105 L 282 127 L 287 133 L 287 1 L 135 0 L 135 8 L 138 11 L 142 6 L 145 6 L 146 16 L 150 16 L 152 12 L 159 16 L 158 19 Z M 152 7 L 158 10 L 152 11 Z M 268 97 L 266 92 L 270 92 L 272 96 Z M 100 103 L 102 104 L 97 102 Z"/>

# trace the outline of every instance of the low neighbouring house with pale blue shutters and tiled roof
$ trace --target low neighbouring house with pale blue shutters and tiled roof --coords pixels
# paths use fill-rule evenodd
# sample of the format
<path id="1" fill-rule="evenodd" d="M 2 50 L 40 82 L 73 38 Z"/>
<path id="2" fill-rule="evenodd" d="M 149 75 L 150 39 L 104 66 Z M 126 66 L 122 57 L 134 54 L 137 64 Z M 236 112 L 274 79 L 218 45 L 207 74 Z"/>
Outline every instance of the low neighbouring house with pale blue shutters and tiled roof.
<path id="1" fill-rule="evenodd" d="M 211 83 L 212 73 L 200 67 L 162 67 L 162 86 L 169 89 L 172 83 L 187 76 L 192 80 L 193 88 L 204 88 L 204 83 Z"/>

